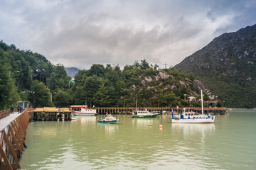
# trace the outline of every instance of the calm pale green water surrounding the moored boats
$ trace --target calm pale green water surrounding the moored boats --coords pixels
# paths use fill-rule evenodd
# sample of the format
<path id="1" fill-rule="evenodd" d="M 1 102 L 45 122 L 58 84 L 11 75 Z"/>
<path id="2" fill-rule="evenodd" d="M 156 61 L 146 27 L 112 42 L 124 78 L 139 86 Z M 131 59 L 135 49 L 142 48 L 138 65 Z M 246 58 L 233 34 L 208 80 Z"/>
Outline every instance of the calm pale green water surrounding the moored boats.
<path id="1" fill-rule="evenodd" d="M 256 111 L 214 124 L 171 124 L 170 115 L 97 123 L 105 115 L 28 125 L 22 169 L 256 169 Z M 151 124 L 151 126 L 150 126 Z M 159 128 L 163 125 L 163 128 Z"/>

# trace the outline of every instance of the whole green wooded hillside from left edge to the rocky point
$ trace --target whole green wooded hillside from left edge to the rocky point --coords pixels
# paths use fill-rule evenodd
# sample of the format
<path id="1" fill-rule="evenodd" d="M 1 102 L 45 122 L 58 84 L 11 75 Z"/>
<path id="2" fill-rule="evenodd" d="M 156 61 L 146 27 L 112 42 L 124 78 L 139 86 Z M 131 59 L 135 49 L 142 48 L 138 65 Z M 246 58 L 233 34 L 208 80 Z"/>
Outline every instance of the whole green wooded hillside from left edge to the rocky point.
<path id="1" fill-rule="evenodd" d="M 121 70 L 118 66 L 93 64 L 80 70 L 70 81 L 62 64 L 53 65 L 46 57 L 15 45 L 0 42 L 0 109 L 17 101 L 30 101 L 33 107 L 89 106 L 200 106 L 188 96 L 200 98 L 203 84 L 193 75 L 176 69 L 159 70 L 146 60 Z M 184 99 L 184 94 L 186 98 Z M 208 94 L 205 92 L 205 99 Z M 208 106 L 208 104 L 206 104 Z M 220 103 L 219 103 L 220 106 Z"/>

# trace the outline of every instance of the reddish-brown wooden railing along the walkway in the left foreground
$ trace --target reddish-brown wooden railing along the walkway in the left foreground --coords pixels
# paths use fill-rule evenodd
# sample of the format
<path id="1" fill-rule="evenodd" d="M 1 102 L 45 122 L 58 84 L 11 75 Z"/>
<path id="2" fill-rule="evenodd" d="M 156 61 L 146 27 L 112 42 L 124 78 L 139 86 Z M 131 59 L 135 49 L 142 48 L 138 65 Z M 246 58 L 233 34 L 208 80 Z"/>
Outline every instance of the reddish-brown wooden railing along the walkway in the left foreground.
<path id="1" fill-rule="evenodd" d="M 24 111 L 0 133 L 0 169 L 21 169 L 19 160 L 25 145 L 28 112 Z"/>

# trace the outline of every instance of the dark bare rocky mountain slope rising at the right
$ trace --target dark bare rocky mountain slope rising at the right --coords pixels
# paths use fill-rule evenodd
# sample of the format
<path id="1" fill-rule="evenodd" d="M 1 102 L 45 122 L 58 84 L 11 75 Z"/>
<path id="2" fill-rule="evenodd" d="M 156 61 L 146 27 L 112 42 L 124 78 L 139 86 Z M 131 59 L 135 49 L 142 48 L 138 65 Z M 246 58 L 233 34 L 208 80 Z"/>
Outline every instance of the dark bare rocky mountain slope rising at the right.
<path id="1" fill-rule="evenodd" d="M 225 106 L 256 108 L 256 24 L 220 35 L 174 68 L 193 74 Z"/>

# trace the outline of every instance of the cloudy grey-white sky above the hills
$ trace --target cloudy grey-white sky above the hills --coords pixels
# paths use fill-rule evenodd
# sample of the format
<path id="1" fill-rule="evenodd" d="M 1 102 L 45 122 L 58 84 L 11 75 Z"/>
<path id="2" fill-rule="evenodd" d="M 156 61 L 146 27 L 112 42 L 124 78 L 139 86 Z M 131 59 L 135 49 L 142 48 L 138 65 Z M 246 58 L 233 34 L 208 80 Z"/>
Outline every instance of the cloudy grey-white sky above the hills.
<path id="1" fill-rule="evenodd" d="M 256 23 L 255 0 L 0 0 L 0 40 L 53 64 L 174 67 Z"/>

